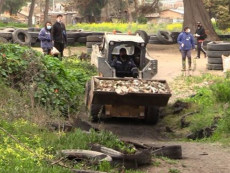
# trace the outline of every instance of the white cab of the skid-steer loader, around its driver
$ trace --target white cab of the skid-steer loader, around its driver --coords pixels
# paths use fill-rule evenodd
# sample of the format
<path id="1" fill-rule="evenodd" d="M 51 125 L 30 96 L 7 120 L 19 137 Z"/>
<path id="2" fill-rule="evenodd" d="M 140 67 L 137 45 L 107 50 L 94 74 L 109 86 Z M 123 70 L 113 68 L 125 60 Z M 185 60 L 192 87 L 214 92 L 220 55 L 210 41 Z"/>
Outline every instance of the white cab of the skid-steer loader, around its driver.
<path id="1" fill-rule="evenodd" d="M 91 64 L 98 69 L 99 76 L 116 77 L 116 71 L 111 67 L 114 58 L 125 48 L 137 65 L 139 78 L 151 79 L 157 74 L 157 60 L 146 52 L 146 43 L 139 35 L 106 33 L 100 46 L 93 45 Z"/>

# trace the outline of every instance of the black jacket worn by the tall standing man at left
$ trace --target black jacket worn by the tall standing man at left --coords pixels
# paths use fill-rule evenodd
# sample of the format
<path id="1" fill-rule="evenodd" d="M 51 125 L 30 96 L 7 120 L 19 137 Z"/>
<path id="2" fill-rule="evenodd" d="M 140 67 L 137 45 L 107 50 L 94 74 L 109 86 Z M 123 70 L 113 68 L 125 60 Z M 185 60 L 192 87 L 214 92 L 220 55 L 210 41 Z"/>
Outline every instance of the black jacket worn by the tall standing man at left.
<path id="1" fill-rule="evenodd" d="M 55 22 L 52 27 L 52 38 L 54 42 L 66 43 L 66 29 L 63 23 Z"/>

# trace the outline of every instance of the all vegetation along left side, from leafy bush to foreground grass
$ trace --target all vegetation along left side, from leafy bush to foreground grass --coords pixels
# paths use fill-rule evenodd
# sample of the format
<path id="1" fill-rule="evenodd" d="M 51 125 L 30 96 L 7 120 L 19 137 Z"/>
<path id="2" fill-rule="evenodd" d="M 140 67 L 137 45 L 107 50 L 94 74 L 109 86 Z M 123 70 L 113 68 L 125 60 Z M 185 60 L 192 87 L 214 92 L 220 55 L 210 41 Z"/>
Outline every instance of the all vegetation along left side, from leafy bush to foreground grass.
<path id="1" fill-rule="evenodd" d="M 54 101 L 60 103 L 55 105 L 58 109 L 62 104 L 69 105 L 71 99 L 75 104 L 82 102 L 80 96 L 85 81 L 95 73 L 95 68 L 88 62 L 81 62 L 77 57 L 68 57 L 61 62 L 12 44 L 0 45 L 0 50 L 0 172 L 68 173 L 71 169 L 117 172 L 108 162 L 95 166 L 87 161 L 73 163 L 64 158 L 62 163 L 67 168 L 53 163 L 62 157 L 57 154 L 59 150 L 90 149 L 91 143 L 123 153 L 136 152 L 133 146 L 108 131 L 92 130 L 90 134 L 80 129 L 51 131 L 53 122 L 65 121 L 57 116 L 60 113 L 54 109 Z M 74 94 L 79 96 L 78 100 L 73 99 L 76 98 Z"/>

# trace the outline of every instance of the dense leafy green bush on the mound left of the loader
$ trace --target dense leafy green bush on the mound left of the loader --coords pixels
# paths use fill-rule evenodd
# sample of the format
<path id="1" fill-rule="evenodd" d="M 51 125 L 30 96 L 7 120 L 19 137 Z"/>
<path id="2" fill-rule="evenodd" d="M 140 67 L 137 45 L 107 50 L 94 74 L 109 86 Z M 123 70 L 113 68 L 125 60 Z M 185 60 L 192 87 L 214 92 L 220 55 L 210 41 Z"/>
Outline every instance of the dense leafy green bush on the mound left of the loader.
<path id="1" fill-rule="evenodd" d="M 78 111 L 86 81 L 96 73 L 77 57 L 59 61 L 55 57 L 14 44 L 0 45 L 0 76 L 19 91 L 27 91 L 35 103 L 65 114 Z M 85 70 L 89 69 L 89 70 Z"/>

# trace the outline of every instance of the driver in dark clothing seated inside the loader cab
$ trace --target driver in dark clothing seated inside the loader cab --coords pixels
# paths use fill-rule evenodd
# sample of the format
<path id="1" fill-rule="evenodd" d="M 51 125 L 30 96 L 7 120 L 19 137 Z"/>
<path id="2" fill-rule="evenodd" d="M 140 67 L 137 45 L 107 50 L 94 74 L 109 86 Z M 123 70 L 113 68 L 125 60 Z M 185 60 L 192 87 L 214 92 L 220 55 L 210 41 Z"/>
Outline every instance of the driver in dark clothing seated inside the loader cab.
<path id="1" fill-rule="evenodd" d="M 111 67 L 116 69 L 117 77 L 138 77 L 138 68 L 132 58 L 127 56 L 125 48 L 120 49 L 120 55 L 113 60 Z"/>

